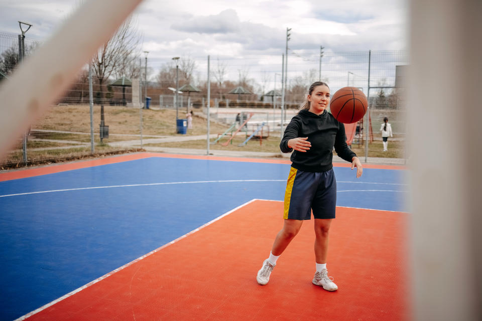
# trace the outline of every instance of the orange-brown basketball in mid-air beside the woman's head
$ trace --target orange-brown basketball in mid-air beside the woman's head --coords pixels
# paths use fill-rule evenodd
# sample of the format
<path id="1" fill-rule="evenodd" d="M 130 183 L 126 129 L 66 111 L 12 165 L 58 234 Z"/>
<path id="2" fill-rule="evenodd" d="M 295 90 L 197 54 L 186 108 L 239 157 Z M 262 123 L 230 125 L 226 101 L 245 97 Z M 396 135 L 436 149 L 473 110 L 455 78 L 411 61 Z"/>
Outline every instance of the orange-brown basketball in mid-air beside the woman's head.
<path id="1" fill-rule="evenodd" d="M 367 107 L 367 96 L 356 87 L 338 89 L 330 100 L 331 114 L 345 124 L 362 119 L 367 112 Z"/>

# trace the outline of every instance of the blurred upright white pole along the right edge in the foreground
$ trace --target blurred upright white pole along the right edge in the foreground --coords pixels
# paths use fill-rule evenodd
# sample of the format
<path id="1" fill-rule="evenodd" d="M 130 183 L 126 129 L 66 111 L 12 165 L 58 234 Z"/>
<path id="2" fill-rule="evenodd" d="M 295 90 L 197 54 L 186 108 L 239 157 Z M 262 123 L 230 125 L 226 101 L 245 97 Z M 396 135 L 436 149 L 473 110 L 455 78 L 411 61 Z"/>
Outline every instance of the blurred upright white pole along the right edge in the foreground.
<path id="1" fill-rule="evenodd" d="M 411 0 L 408 89 L 416 320 L 482 319 L 482 1 Z"/>

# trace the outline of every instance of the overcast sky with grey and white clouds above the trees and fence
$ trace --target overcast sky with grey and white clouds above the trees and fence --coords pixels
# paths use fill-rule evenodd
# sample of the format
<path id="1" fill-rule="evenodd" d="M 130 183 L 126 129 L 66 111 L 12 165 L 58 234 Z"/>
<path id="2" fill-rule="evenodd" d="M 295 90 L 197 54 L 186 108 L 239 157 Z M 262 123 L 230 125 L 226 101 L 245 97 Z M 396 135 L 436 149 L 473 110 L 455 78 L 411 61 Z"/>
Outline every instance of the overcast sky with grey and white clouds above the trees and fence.
<path id="1" fill-rule="evenodd" d="M 21 20 L 33 24 L 27 37 L 45 41 L 79 3 L 0 0 L 0 32 L 18 34 Z M 145 0 L 134 20 L 144 39 L 141 50 L 149 51 L 156 69 L 174 56 L 276 55 L 281 62 L 287 27 L 292 62 L 297 54 L 319 53 L 320 46 L 325 53 L 403 50 L 406 16 L 406 0 Z"/>

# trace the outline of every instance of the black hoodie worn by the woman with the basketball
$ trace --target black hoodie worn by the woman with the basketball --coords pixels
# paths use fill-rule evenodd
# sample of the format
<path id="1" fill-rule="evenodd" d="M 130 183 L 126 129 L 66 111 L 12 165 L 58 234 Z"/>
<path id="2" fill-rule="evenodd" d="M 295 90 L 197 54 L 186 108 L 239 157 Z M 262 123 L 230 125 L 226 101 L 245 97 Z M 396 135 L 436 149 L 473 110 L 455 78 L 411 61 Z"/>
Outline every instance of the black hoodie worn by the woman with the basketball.
<path id="1" fill-rule="evenodd" d="M 333 168 L 333 147 L 346 162 L 356 154 L 346 144 L 345 126 L 326 110 L 317 115 L 308 110 L 300 110 L 286 126 L 280 148 L 282 152 L 290 152 L 288 140 L 297 137 L 308 137 L 311 147 L 306 152 L 293 151 L 292 167 L 304 172 L 325 172 Z"/>

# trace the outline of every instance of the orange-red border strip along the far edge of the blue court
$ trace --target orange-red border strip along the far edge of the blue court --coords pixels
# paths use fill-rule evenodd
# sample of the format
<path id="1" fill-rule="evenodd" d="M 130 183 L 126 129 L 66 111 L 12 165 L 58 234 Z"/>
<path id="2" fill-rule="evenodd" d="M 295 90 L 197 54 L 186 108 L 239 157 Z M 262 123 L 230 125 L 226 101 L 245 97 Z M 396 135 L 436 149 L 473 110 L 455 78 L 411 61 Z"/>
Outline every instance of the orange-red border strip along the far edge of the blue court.
<path id="1" fill-rule="evenodd" d="M 288 159 L 267 159 L 267 158 L 250 158 L 250 157 L 234 157 L 234 156 L 212 156 L 212 155 L 186 155 L 186 154 L 169 154 L 169 153 L 155 153 L 155 152 L 140 152 L 127 155 L 115 155 L 110 157 L 103 157 L 99 159 L 89 159 L 88 161 L 77 161 L 67 164 L 56 164 L 50 166 L 43 166 L 34 169 L 22 169 L 10 172 L 0 173 L 0 182 L 24 179 L 29 177 L 42 176 L 47 174 L 55 174 L 60 172 L 67 172 L 72 170 L 79 170 L 89 167 L 110 165 L 116 163 L 123 163 L 129 161 L 137 161 L 138 159 L 163 157 L 163 158 L 182 158 L 182 159 L 204 159 L 211 161 L 226 161 L 226 162 L 245 162 L 245 163 L 265 163 L 265 164 L 286 164 L 291 165 Z M 407 170 L 407 167 L 400 165 L 374 165 L 362 164 L 364 169 L 376 170 Z M 351 167 L 351 164 L 333 163 L 333 167 Z"/>

